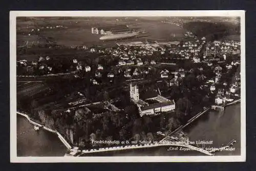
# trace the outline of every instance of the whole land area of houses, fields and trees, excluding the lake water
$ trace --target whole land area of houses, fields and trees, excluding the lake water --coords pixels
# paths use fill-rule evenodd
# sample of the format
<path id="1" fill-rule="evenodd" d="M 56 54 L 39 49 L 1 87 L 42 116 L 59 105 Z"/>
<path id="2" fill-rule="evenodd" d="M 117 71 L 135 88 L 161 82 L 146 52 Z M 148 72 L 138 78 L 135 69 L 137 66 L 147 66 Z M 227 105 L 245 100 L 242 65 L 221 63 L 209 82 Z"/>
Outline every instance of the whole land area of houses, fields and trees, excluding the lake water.
<path id="1" fill-rule="evenodd" d="M 183 128 L 240 102 L 239 18 L 17 17 L 16 34 L 17 113 L 67 156 L 220 150 L 192 146 Z"/>

